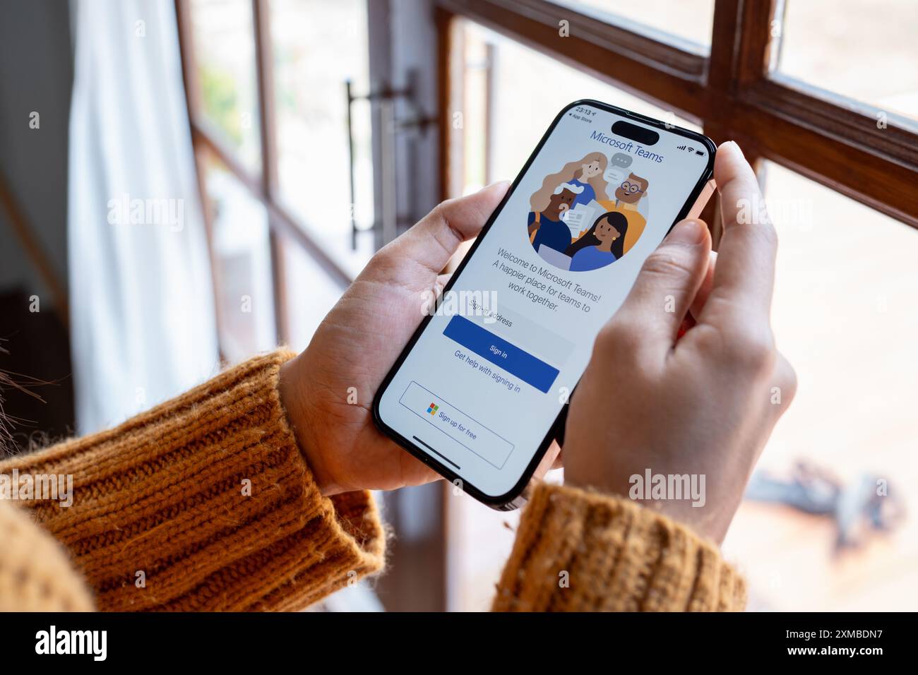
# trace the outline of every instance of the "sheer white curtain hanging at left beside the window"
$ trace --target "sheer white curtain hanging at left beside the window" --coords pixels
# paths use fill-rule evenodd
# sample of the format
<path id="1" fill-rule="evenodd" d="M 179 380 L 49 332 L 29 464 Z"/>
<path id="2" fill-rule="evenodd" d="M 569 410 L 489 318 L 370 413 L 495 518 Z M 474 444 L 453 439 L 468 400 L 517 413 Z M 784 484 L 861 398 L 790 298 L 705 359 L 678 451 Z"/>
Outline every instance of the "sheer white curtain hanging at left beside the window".
<path id="1" fill-rule="evenodd" d="M 75 0 L 68 257 L 90 433 L 217 372 L 174 3 Z"/>

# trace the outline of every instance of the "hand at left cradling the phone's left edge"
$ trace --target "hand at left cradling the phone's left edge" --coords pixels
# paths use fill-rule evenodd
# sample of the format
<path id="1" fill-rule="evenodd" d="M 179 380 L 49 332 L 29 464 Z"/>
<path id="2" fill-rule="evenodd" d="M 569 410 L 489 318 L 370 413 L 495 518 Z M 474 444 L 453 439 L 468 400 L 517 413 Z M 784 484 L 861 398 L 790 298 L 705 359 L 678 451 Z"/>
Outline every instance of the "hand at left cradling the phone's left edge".
<path id="1" fill-rule="evenodd" d="M 324 494 L 396 489 L 439 478 L 379 433 L 376 389 L 439 294 L 442 269 L 475 237 L 507 183 L 434 208 L 373 256 L 322 321 L 308 348 L 281 370 L 281 399 Z"/>

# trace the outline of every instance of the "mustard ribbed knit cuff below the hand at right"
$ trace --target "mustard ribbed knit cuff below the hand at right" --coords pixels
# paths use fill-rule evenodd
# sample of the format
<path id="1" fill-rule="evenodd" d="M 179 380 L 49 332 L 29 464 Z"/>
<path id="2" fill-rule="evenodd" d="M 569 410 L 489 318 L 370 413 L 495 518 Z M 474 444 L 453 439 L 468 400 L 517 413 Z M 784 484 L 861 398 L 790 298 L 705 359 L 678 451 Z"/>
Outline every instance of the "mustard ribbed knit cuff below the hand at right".
<path id="1" fill-rule="evenodd" d="M 498 584 L 501 612 L 739 611 L 743 579 L 687 527 L 631 501 L 539 485 Z"/>

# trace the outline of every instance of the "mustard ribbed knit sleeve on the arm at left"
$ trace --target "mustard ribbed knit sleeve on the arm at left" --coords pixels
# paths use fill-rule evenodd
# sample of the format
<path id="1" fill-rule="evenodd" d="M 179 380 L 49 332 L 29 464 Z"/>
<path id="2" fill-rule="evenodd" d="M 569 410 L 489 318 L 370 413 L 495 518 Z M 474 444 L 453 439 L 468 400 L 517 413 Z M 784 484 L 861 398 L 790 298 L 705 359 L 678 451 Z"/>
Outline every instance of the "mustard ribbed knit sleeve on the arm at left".
<path id="1" fill-rule="evenodd" d="M 370 494 L 323 498 L 287 425 L 277 384 L 292 355 L 0 463 L 73 476 L 70 507 L 17 505 L 67 549 L 99 609 L 297 610 L 383 567 Z"/>

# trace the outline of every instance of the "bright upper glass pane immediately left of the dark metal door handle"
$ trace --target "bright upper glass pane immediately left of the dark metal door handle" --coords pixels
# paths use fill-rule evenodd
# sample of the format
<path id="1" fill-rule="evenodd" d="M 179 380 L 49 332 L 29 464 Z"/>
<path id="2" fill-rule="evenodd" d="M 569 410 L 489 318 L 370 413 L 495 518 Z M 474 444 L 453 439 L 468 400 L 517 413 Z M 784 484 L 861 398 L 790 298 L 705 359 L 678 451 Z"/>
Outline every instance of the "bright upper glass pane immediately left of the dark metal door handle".
<path id="1" fill-rule="evenodd" d="M 352 81 L 356 96 L 368 92 L 366 21 L 365 0 L 271 3 L 281 196 L 354 275 L 373 253 L 369 232 L 352 250 L 351 230 L 352 212 L 360 228 L 373 225 L 373 159 L 369 105 L 357 102 L 352 195 L 345 81 Z"/>

